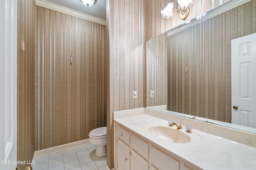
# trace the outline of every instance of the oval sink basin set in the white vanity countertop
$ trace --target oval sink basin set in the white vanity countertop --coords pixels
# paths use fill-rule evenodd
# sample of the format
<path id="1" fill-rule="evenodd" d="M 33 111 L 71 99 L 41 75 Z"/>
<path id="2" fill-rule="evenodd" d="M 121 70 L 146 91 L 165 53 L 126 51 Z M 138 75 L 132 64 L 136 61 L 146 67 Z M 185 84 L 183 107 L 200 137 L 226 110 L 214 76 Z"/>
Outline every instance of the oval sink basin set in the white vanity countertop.
<path id="1" fill-rule="evenodd" d="M 191 138 L 185 133 L 170 127 L 153 126 L 149 128 L 149 131 L 152 135 L 173 143 L 189 143 L 191 140 Z"/>

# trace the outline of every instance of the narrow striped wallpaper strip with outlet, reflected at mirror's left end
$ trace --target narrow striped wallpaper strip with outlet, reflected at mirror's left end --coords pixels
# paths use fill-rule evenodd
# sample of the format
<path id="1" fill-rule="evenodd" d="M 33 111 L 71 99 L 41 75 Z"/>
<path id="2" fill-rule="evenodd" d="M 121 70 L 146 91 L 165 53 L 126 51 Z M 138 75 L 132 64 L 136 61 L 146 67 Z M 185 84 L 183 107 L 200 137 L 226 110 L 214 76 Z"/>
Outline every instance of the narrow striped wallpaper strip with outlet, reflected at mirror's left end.
<path id="1" fill-rule="evenodd" d="M 167 48 L 166 33 L 146 42 L 146 106 L 167 104 Z M 154 90 L 154 97 L 151 97 Z"/>

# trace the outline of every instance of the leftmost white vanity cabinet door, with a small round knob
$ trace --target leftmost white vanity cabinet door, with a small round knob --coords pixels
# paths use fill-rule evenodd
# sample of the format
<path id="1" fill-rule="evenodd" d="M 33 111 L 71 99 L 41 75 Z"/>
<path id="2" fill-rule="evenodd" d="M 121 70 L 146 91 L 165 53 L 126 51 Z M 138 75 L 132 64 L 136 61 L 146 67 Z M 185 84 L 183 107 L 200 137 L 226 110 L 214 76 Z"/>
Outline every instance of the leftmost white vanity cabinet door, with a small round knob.
<path id="1" fill-rule="evenodd" d="M 130 147 L 121 140 L 118 140 L 117 154 L 117 169 L 130 170 Z"/>

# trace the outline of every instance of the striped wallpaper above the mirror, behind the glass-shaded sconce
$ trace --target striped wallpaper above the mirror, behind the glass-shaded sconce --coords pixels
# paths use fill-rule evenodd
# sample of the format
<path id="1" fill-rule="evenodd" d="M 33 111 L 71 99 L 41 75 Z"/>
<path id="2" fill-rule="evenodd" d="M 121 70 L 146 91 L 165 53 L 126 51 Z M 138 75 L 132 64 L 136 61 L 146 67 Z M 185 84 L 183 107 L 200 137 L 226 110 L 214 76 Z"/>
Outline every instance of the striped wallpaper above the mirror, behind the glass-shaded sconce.
<path id="1" fill-rule="evenodd" d="M 145 40 L 156 37 L 228 1 L 230 0 L 194 0 L 190 7 L 188 18 L 183 21 L 179 18 L 178 12 L 176 12 L 176 0 L 173 1 L 175 7 L 173 10 L 174 16 L 169 20 L 162 18 L 160 10 L 163 10 L 172 0 L 145 0 L 145 27 L 147 29 Z"/>

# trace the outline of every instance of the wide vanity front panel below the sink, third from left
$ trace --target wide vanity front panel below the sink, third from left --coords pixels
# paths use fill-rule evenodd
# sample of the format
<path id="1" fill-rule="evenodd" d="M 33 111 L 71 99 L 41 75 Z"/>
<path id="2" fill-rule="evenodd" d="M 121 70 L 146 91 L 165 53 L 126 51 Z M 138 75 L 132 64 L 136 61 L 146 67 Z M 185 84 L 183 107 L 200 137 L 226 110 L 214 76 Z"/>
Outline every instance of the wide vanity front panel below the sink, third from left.
<path id="1" fill-rule="evenodd" d="M 180 162 L 178 160 L 152 146 L 150 146 L 149 160 L 159 170 L 180 169 Z"/>

